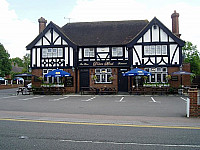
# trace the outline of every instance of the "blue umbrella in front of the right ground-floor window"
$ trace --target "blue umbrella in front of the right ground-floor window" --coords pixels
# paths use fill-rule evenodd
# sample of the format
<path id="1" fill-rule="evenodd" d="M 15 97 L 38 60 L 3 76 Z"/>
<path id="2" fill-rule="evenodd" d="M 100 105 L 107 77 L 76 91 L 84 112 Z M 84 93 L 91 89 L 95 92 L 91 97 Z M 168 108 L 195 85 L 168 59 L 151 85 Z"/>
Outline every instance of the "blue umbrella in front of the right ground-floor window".
<path id="1" fill-rule="evenodd" d="M 150 76 L 151 73 L 139 68 L 132 69 L 123 74 L 123 76 Z"/>

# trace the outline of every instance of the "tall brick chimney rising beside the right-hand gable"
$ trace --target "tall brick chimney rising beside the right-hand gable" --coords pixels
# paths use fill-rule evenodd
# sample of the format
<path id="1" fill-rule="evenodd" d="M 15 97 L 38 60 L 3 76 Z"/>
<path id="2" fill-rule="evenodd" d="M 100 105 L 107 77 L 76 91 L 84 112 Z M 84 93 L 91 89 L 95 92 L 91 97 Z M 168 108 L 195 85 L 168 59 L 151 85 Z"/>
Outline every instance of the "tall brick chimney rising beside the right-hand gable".
<path id="1" fill-rule="evenodd" d="M 174 13 L 171 15 L 172 18 L 172 32 L 180 38 L 181 34 L 179 34 L 179 13 L 174 10 Z"/>

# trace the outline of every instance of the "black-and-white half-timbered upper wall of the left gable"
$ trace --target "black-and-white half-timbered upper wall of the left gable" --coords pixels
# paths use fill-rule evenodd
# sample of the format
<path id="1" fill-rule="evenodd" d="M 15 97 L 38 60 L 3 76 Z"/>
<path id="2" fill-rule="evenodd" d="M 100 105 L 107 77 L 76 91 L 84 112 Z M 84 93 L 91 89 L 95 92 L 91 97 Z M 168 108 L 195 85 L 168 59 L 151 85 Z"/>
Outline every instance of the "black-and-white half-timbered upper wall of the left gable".
<path id="1" fill-rule="evenodd" d="M 31 43 L 32 68 L 66 68 L 74 65 L 74 50 L 53 23 Z"/>

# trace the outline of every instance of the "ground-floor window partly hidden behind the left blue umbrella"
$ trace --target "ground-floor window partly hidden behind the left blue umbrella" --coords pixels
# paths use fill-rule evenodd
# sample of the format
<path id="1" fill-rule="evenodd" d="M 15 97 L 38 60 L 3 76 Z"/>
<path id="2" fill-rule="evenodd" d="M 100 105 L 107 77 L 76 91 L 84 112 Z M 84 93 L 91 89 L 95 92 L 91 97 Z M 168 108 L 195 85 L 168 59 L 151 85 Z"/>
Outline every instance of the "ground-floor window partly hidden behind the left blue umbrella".
<path id="1" fill-rule="evenodd" d="M 45 77 L 45 75 L 55 69 L 43 69 L 43 79 L 45 83 L 61 83 L 62 77 Z"/>

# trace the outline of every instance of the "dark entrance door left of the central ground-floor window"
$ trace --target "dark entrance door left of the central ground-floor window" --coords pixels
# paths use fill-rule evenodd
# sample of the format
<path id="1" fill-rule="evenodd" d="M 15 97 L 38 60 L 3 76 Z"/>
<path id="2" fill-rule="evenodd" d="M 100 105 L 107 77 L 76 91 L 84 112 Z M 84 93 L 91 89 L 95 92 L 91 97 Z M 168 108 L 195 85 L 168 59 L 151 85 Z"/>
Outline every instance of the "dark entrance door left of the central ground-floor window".
<path id="1" fill-rule="evenodd" d="M 80 88 L 89 87 L 89 69 L 80 70 Z"/>

